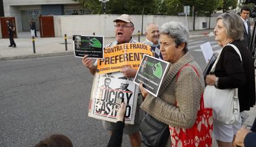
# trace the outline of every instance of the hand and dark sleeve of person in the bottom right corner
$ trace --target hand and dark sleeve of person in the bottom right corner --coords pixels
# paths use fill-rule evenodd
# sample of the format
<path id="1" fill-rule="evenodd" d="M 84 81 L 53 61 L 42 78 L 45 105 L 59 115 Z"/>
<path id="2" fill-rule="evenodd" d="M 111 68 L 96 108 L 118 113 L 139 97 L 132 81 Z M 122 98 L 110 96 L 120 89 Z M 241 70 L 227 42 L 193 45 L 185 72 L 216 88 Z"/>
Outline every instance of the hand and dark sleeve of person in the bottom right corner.
<path id="1" fill-rule="evenodd" d="M 255 147 L 256 146 L 256 118 L 254 124 L 247 130 L 246 128 L 240 128 L 237 131 L 236 139 L 234 140 L 234 146 Z"/>

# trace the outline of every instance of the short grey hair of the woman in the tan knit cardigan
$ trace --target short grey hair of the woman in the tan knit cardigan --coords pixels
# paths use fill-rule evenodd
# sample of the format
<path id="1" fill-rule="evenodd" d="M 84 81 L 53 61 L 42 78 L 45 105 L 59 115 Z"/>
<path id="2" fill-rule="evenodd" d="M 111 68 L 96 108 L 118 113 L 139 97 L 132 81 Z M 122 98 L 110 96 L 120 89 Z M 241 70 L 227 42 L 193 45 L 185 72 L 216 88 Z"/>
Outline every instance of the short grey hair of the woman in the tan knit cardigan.
<path id="1" fill-rule="evenodd" d="M 188 51 L 187 44 L 189 44 L 189 30 L 187 27 L 182 25 L 179 22 L 166 22 L 160 28 L 160 34 L 168 35 L 170 38 L 173 38 L 176 43 L 176 48 L 185 43 L 183 51 L 186 53 Z"/>

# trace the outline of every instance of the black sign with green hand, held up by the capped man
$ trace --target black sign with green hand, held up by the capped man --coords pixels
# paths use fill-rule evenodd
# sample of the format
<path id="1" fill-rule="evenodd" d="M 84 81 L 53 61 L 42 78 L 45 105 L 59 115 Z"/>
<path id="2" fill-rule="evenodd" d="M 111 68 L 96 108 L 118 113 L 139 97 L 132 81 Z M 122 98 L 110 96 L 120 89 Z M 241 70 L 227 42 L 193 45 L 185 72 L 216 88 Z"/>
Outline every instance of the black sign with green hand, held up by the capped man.
<path id="1" fill-rule="evenodd" d="M 75 57 L 103 58 L 103 36 L 73 35 L 73 41 Z"/>

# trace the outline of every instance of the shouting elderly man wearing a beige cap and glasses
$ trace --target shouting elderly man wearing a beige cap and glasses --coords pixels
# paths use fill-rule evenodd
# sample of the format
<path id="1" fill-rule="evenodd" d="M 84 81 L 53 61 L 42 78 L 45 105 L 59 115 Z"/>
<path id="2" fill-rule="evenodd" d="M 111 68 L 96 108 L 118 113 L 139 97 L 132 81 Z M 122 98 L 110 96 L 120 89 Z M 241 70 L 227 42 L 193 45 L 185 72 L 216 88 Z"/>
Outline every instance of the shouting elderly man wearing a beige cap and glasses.
<path id="1" fill-rule="evenodd" d="M 117 44 L 122 43 L 137 43 L 137 41 L 132 39 L 132 33 L 134 32 L 134 23 L 130 16 L 127 14 L 122 14 L 120 17 L 113 21 L 115 23 L 115 36 L 116 40 L 113 43 L 110 43 L 105 46 L 105 48 L 116 46 Z M 94 74 L 96 71 L 96 62 L 93 62 L 92 59 L 88 59 L 87 56 L 83 57 L 82 64 L 85 65 L 90 70 L 90 73 Z M 125 67 L 121 69 L 121 72 L 127 78 L 135 77 L 137 70 L 131 69 L 130 67 Z M 138 97 L 138 105 L 139 101 L 142 101 L 141 96 Z M 135 122 L 134 125 L 125 125 L 124 133 L 129 135 L 130 144 L 132 146 L 141 146 L 141 136 L 139 133 L 139 122 L 140 122 L 140 108 L 137 105 L 136 114 L 135 114 Z M 114 123 L 106 122 L 102 120 L 103 127 L 111 132 L 114 130 Z"/>

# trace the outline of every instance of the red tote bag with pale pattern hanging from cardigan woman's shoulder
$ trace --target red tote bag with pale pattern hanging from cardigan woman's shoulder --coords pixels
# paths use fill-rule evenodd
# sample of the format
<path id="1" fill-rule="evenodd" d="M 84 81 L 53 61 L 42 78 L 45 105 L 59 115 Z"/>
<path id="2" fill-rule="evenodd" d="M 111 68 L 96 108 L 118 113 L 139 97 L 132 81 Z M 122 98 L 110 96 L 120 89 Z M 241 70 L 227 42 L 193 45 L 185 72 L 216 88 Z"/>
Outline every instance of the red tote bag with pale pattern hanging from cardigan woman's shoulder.
<path id="1" fill-rule="evenodd" d="M 192 65 L 185 65 L 191 66 Z M 184 67 L 185 67 L 184 66 Z M 183 67 L 182 67 L 183 68 Z M 181 68 L 181 69 L 182 69 Z M 181 70 L 180 69 L 180 70 Z M 197 70 L 193 67 L 195 72 L 198 75 Z M 179 72 L 180 72 L 179 70 Z M 177 77 L 179 76 L 179 72 Z M 197 119 L 195 120 L 195 124 L 192 128 L 179 128 L 169 126 L 170 134 L 171 134 L 171 146 L 211 146 L 212 143 L 212 130 L 213 130 L 213 115 L 212 109 L 205 108 L 203 102 L 203 93 L 200 100 L 200 109 L 197 112 Z"/>

